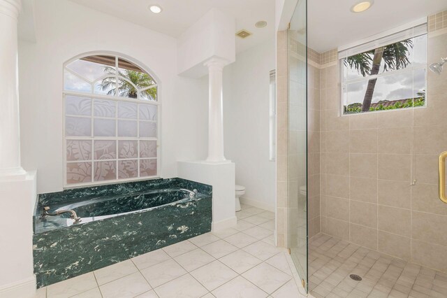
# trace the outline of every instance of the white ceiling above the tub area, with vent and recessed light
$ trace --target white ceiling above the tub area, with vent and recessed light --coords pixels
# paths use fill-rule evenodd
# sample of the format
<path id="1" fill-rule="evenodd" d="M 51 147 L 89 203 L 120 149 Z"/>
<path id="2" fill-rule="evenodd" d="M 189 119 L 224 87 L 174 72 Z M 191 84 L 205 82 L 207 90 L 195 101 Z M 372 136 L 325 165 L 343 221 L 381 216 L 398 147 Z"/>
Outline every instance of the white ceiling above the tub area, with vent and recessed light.
<path id="1" fill-rule="evenodd" d="M 211 8 L 218 8 L 236 20 L 236 31 L 247 29 L 253 35 L 236 38 L 236 52 L 242 52 L 268 38 L 274 38 L 274 0 L 71 0 L 75 3 L 115 15 L 123 20 L 140 24 L 154 31 L 178 37 Z M 163 8 L 151 13 L 149 4 Z M 259 20 L 268 23 L 258 29 Z"/>

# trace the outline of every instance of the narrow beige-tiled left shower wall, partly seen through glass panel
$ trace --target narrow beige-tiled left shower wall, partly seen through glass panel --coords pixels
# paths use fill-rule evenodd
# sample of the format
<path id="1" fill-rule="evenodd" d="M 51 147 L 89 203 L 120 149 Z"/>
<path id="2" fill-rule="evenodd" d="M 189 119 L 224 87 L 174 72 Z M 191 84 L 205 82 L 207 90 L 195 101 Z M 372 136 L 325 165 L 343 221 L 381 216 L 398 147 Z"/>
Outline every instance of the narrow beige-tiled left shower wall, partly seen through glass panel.
<path id="1" fill-rule="evenodd" d="M 320 232 L 320 54 L 312 50 L 307 53 L 313 61 L 307 69 L 307 210 L 305 195 L 300 192 L 306 186 L 302 171 L 306 166 L 302 157 L 306 150 L 306 103 L 299 77 L 305 75 L 305 48 L 287 34 L 277 34 L 277 245 L 295 247 L 305 243 L 306 211 L 309 237 Z M 289 50 L 293 55 L 289 63 L 288 37 L 292 38 Z"/>

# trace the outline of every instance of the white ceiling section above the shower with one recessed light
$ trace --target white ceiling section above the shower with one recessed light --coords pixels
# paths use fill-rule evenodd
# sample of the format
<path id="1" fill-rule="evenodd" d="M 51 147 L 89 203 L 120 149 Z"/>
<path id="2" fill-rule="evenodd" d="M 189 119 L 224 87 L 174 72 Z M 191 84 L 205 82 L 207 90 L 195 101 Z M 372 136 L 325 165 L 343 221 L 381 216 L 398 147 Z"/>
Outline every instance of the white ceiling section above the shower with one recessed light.
<path id="1" fill-rule="evenodd" d="M 375 0 L 351 13 L 359 0 L 308 0 L 307 38 L 317 52 L 332 50 L 447 9 L 447 0 Z"/>

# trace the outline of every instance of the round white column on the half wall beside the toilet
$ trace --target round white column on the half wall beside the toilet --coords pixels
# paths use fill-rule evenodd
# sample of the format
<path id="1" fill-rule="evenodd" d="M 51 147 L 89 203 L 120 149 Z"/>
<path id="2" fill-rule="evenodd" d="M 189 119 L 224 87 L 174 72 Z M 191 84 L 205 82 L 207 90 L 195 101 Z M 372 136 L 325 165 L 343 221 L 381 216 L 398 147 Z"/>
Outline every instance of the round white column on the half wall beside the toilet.
<path id="1" fill-rule="evenodd" d="M 222 72 L 227 62 L 212 58 L 205 62 L 208 67 L 210 99 L 208 106 L 208 157 L 206 162 L 221 164 L 228 160 L 223 156 L 223 96 Z"/>

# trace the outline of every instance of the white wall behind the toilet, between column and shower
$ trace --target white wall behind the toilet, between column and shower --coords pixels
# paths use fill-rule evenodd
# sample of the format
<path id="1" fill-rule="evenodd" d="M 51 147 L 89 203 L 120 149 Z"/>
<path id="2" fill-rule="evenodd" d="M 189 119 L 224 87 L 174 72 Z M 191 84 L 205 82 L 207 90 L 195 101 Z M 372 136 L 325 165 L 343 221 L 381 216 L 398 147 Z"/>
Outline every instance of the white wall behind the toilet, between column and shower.
<path id="1" fill-rule="evenodd" d="M 245 199 L 274 210 L 275 162 L 269 160 L 269 83 L 275 68 L 274 36 L 240 52 L 224 69 L 225 155 L 236 164 Z"/>

